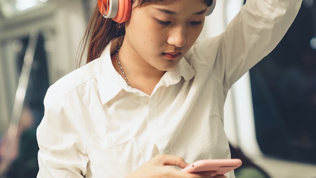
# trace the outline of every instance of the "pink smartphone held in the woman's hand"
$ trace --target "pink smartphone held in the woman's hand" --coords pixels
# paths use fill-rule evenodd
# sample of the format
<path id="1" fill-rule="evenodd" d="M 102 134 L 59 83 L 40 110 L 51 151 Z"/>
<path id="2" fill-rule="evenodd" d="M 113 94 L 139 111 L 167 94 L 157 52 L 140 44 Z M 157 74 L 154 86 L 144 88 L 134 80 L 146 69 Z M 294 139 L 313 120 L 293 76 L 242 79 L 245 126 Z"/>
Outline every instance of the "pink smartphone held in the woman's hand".
<path id="1" fill-rule="evenodd" d="M 217 174 L 222 175 L 241 166 L 240 159 L 205 159 L 198 160 L 183 168 L 185 172 L 203 172 L 217 171 Z"/>

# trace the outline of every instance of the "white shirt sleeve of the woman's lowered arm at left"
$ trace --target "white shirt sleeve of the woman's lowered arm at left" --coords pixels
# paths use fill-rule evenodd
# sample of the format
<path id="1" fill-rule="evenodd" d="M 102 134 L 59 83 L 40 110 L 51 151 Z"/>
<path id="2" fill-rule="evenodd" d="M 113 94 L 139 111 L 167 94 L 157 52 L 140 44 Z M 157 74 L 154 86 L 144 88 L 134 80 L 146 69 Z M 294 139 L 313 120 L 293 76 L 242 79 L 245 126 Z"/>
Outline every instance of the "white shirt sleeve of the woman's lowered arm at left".
<path id="1" fill-rule="evenodd" d="M 53 86 L 53 85 L 52 85 Z M 37 127 L 39 177 L 83 177 L 88 157 L 67 95 L 48 88 Z"/>

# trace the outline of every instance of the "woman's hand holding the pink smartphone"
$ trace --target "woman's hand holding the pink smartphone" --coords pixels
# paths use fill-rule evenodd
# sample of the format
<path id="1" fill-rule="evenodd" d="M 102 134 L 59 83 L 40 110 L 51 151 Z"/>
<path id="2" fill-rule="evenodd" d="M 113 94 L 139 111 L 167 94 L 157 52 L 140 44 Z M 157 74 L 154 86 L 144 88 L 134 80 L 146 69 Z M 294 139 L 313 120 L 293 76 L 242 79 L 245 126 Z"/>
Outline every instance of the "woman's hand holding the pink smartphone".
<path id="1" fill-rule="evenodd" d="M 145 162 L 142 166 L 129 174 L 126 178 L 165 178 L 165 177 L 183 177 L 183 178 L 225 178 L 224 175 L 216 175 L 216 172 L 186 173 L 172 166 L 184 168 L 189 163 L 185 162 L 180 156 L 157 155 Z"/>

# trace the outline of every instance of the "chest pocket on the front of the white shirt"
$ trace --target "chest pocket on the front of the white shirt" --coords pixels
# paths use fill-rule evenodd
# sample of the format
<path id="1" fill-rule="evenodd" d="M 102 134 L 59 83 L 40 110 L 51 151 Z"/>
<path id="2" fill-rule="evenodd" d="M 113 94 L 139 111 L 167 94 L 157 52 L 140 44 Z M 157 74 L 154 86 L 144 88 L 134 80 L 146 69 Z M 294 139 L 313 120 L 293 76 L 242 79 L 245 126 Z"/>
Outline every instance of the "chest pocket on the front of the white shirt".
<path id="1" fill-rule="evenodd" d="M 92 135 L 90 140 L 88 154 L 93 177 L 125 177 L 145 162 L 135 138 L 114 143 Z"/>

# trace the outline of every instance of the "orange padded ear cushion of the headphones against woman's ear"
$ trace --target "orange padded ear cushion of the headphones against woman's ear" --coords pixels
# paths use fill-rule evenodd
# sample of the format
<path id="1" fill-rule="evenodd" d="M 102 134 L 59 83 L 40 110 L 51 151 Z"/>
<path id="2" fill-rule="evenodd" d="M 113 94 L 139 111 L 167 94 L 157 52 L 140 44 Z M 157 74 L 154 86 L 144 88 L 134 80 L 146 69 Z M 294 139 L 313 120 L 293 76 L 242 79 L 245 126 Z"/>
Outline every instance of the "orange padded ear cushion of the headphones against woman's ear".
<path id="1" fill-rule="evenodd" d="M 113 18 L 117 23 L 124 23 L 131 17 L 132 0 L 119 0 L 117 16 Z"/>

